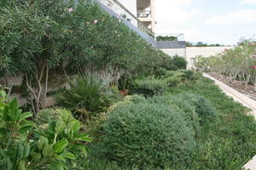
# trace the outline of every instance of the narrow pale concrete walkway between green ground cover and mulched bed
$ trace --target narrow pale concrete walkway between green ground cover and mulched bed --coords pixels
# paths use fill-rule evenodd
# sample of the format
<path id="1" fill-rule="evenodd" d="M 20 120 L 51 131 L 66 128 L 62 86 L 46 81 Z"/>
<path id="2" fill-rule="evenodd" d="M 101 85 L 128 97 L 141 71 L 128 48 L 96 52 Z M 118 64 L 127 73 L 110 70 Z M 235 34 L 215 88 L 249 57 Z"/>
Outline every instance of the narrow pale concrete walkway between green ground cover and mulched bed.
<path id="1" fill-rule="evenodd" d="M 241 103 L 242 105 L 252 109 L 252 111 L 249 114 L 253 115 L 256 119 L 256 101 L 255 100 L 250 99 L 246 95 L 237 92 L 234 88 L 230 88 L 230 86 L 227 86 L 223 82 L 218 81 L 216 78 L 213 78 L 207 75 L 206 73 L 203 73 L 203 76 L 212 79 L 215 82 L 215 84 L 218 85 L 218 87 L 223 90 L 224 94 L 232 97 L 234 100 Z M 254 156 L 251 161 L 248 161 L 243 168 L 246 170 L 256 170 L 256 156 Z"/>

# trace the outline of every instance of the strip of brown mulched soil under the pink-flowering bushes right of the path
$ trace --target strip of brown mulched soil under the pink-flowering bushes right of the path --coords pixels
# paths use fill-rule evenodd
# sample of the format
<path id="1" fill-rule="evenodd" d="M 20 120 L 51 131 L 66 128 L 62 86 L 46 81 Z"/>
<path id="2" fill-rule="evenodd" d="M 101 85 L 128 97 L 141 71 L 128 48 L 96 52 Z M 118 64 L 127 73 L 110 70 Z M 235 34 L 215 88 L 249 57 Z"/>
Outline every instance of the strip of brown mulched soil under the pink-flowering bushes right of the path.
<path id="1" fill-rule="evenodd" d="M 235 88 L 241 94 L 245 94 L 247 95 L 247 97 L 256 101 L 256 92 L 254 91 L 254 87 L 252 85 L 248 85 L 246 87 L 243 83 L 236 80 L 233 80 L 232 82 L 230 82 L 230 80 L 227 80 L 226 77 L 218 75 L 214 72 L 208 72 L 207 74 L 210 75 L 211 77 L 218 79 L 221 82 L 224 82 L 226 85 L 232 88 Z"/>

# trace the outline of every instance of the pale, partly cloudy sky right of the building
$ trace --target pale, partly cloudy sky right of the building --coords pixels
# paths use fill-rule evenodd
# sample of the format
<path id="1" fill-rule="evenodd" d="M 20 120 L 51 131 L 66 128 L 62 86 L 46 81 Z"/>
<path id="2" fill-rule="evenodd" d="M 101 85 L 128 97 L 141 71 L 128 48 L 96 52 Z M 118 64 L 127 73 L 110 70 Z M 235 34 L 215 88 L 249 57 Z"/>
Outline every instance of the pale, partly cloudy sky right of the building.
<path id="1" fill-rule="evenodd" d="M 256 0 L 155 0 L 156 33 L 233 45 L 256 37 Z"/>

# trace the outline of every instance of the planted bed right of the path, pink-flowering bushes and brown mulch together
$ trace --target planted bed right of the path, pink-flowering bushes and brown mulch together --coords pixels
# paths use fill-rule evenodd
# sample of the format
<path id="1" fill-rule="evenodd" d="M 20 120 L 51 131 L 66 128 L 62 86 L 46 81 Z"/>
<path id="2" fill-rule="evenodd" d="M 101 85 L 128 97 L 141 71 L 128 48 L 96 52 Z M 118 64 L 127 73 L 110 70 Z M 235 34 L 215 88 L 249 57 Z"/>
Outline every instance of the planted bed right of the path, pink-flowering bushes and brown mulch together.
<path id="1" fill-rule="evenodd" d="M 197 56 L 195 67 L 256 100 L 255 40 L 243 40 L 235 48 L 209 58 Z"/>

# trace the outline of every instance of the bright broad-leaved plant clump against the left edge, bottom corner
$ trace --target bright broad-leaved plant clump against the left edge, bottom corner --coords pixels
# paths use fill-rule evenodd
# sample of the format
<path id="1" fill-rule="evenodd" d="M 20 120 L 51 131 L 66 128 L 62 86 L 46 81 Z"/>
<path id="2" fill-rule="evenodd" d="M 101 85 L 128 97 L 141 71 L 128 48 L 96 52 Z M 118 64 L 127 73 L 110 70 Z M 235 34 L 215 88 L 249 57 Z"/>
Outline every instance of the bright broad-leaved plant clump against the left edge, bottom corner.
<path id="1" fill-rule="evenodd" d="M 2 101 L 0 101 L 2 103 Z M 26 119 L 31 112 L 22 113 L 16 99 L 0 111 L 0 168 L 26 169 L 31 143 L 27 139 L 34 124 Z"/>

